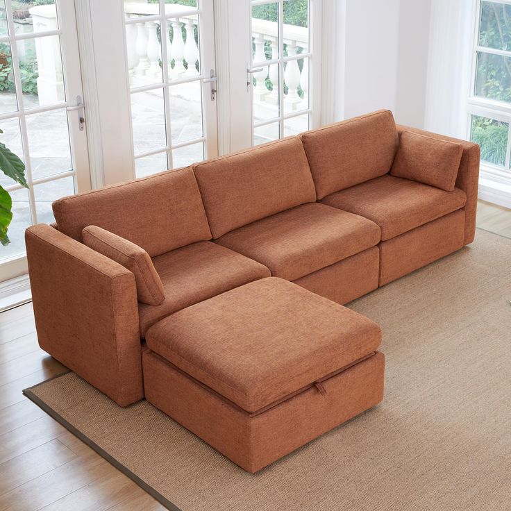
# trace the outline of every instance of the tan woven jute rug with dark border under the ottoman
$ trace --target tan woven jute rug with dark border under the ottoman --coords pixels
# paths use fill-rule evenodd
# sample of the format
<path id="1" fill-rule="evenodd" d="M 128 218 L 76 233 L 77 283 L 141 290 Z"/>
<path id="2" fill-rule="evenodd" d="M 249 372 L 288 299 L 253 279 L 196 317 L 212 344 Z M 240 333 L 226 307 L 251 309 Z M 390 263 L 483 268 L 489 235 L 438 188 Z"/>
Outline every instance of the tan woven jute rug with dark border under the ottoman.
<path id="1" fill-rule="evenodd" d="M 476 242 L 349 306 L 383 328 L 383 403 L 250 475 L 142 401 L 73 373 L 26 395 L 183 511 L 511 509 L 511 240 Z"/>

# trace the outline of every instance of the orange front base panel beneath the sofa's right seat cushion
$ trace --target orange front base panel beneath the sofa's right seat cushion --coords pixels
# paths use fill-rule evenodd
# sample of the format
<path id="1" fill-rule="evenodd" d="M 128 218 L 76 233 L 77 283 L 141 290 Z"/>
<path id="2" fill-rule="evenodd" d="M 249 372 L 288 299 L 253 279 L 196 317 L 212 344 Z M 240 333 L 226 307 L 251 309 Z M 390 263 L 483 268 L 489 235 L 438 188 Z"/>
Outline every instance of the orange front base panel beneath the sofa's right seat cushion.
<path id="1" fill-rule="evenodd" d="M 463 246 L 464 210 L 380 244 L 380 285 L 428 265 Z"/>

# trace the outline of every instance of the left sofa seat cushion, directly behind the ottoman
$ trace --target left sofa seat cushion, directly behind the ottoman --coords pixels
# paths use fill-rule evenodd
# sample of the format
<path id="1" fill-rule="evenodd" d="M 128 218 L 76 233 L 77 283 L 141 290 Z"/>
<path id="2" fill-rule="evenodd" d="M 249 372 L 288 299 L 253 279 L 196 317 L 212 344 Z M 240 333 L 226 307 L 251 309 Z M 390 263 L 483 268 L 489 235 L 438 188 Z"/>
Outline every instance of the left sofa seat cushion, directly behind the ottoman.
<path id="1" fill-rule="evenodd" d="M 269 269 L 212 242 L 198 242 L 158 255 L 153 265 L 162 280 L 160 305 L 139 303 L 140 335 L 156 321 L 215 294 L 270 275 Z"/>

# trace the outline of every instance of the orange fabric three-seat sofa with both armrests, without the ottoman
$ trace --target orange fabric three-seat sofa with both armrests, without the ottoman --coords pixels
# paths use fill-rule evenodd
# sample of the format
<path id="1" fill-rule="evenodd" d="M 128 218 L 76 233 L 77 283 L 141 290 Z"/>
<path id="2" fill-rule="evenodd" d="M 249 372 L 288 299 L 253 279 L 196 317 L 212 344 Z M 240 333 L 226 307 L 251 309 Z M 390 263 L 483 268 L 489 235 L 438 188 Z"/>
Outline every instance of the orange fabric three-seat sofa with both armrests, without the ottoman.
<path id="1" fill-rule="evenodd" d="M 26 231 L 40 346 L 129 405 L 158 386 L 142 353 L 174 371 L 151 332 L 178 311 L 269 277 L 342 305 L 469 244 L 478 171 L 476 144 L 380 110 L 59 199 Z"/>

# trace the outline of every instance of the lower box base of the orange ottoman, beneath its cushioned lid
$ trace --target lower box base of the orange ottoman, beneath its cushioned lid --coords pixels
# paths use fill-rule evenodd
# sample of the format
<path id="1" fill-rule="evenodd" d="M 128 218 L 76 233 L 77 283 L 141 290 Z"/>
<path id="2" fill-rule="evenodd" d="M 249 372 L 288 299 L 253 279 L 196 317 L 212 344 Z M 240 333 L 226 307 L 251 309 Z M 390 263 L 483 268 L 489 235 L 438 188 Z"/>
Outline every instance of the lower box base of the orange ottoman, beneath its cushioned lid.
<path id="1" fill-rule="evenodd" d="M 249 413 L 150 350 L 142 355 L 146 400 L 249 472 L 256 472 L 383 399 L 385 358 L 376 352 L 326 380 Z"/>

